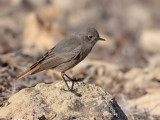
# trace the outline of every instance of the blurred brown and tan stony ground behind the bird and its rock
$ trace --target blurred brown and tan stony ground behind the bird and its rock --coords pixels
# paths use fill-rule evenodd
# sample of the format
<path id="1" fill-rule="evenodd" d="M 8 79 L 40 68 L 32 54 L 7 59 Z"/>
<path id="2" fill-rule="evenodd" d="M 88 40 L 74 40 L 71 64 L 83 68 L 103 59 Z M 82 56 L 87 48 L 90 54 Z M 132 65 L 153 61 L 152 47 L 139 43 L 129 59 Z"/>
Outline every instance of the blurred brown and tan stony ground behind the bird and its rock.
<path id="1" fill-rule="evenodd" d="M 65 36 L 95 27 L 106 42 L 68 74 L 113 96 L 131 120 L 160 117 L 159 0 L 0 0 L 0 106 L 13 79 Z M 52 70 L 16 83 L 16 91 L 61 78 Z"/>

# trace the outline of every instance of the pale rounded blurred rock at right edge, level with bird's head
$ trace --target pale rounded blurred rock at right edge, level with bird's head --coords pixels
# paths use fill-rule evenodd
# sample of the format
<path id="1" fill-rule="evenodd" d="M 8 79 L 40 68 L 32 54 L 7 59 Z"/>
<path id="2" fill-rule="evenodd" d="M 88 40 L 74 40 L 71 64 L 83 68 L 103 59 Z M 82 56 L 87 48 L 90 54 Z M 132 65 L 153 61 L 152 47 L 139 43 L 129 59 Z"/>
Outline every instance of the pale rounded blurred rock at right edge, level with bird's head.
<path id="1" fill-rule="evenodd" d="M 147 52 L 160 51 L 160 30 L 145 30 L 140 39 L 141 46 Z"/>

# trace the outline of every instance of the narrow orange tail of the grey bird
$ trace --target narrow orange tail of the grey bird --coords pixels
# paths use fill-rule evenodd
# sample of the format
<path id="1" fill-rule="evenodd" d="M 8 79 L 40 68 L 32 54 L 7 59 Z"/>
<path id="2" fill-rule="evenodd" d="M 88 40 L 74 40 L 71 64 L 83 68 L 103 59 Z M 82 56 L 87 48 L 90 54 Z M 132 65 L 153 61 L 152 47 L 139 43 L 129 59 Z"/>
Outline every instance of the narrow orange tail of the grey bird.
<path id="1" fill-rule="evenodd" d="M 34 71 L 36 71 L 38 68 L 40 67 L 40 64 L 36 65 L 34 68 L 26 71 L 25 73 L 23 73 L 22 75 L 18 76 L 15 81 L 18 81 L 20 79 L 22 79 L 23 77 L 32 74 Z"/>

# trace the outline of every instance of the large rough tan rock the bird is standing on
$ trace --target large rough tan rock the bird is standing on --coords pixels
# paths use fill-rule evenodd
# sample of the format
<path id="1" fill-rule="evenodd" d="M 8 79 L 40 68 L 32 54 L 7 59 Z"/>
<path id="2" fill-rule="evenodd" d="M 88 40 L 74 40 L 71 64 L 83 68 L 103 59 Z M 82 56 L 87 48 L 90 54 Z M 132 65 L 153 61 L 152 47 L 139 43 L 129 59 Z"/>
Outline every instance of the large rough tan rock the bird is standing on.
<path id="1" fill-rule="evenodd" d="M 23 89 L 9 98 L 8 105 L 0 108 L 0 118 L 33 119 L 34 115 L 34 119 L 52 120 L 127 120 L 113 96 L 100 87 L 76 83 L 74 88 L 81 97 L 61 88 L 66 89 L 64 82 L 40 83 Z"/>

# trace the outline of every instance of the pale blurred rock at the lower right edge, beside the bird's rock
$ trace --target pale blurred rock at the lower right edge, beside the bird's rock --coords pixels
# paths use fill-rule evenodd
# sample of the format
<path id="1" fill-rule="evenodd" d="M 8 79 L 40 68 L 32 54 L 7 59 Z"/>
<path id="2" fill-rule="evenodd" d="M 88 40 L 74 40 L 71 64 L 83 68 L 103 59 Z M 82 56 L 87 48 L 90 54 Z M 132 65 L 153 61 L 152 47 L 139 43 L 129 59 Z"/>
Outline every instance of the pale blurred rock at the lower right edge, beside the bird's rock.
<path id="1" fill-rule="evenodd" d="M 158 90 L 157 90 L 158 91 Z M 136 107 L 140 110 L 147 110 L 152 115 L 159 115 L 160 114 L 160 93 L 159 92 L 150 93 L 144 95 L 138 99 L 133 99 L 128 101 L 128 105 L 133 108 Z"/>

